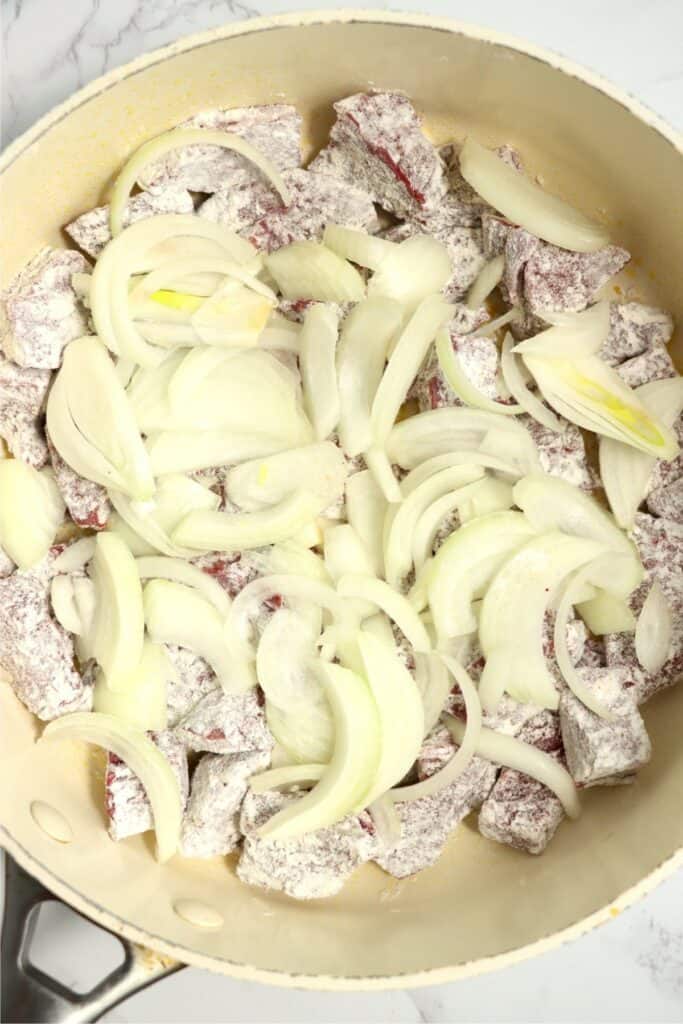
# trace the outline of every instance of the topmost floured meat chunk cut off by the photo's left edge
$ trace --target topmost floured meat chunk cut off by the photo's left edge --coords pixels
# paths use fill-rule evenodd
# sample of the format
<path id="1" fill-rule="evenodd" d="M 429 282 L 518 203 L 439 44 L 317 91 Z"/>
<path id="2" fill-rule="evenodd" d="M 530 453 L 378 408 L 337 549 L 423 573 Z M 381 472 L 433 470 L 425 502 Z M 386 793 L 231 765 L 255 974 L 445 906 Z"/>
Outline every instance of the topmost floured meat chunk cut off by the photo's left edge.
<path id="1" fill-rule="evenodd" d="M 65 345 L 87 334 L 71 279 L 89 269 L 70 249 L 43 249 L 27 263 L 2 297 L 0 337 L 8 359 L 35 370 L 59 366 Z"/>

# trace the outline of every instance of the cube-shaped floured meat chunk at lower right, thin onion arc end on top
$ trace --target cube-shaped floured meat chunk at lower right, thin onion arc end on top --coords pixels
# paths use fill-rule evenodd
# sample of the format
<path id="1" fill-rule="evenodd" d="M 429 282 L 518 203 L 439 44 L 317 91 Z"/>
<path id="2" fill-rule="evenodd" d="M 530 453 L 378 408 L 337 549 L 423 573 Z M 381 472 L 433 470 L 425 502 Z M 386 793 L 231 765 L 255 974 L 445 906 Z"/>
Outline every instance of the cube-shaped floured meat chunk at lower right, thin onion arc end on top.
<path id="1" fill-rule="evenodd" d="M 594 715 L 566 690 L 560 698 L 560 728 L 567 767 L 577 785 L 631 781 L 650 759 L 650 740 L 638 711 L 628 669 L 582 669 L 582 682 L 614 716 Z"/>

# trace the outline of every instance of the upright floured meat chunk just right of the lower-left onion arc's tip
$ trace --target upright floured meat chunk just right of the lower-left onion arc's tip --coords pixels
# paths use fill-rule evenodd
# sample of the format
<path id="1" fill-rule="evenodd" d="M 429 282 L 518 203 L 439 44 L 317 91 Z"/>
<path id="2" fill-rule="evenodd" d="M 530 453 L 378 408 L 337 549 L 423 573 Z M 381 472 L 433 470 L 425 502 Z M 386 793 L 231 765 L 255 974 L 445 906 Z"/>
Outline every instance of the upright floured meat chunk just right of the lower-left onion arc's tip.
<path id="1" fill-rule="evenodd" d="M 268 767 L 270 754 L 206 754 L 193 775 L 182 819 L 183 857 L 217 857 L 231 853 L 242 839 L 240 809 L 254 772 Z"/>

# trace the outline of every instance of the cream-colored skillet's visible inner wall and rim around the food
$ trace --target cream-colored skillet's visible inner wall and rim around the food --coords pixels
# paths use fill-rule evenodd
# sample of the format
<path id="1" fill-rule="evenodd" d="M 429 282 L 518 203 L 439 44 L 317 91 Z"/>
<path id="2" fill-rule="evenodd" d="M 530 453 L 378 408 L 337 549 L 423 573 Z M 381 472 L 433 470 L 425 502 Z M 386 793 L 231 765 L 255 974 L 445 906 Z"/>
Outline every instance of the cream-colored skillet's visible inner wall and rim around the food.
<path id="1" fill-rule="evenodd" d="M 511 142 L 549 188 L 603 210 L 614 241 L 636 257 L 623 290 L 683 321 L 676 134 L 559 57 L 452 22 L 384 12 L 228 26 L 78 93 L 2 157 L 3 276 L 40 246 L 59 244 L 59 226 L 101 199 L 137 144 L 197 111 L 286 99 L 303 113 L 312 147 L 330 126 L 332 101 L 370 85 L 404 89 L 435 141 L 471 131 L 487 144 Z M 397 884 L 369 865 L 334 899 L 296 903 L 243 886 L 224 861 L 198 866 L 176 857 L 160 867 L 148 837 L 112 843 L 100 762 L 76 744 L 36 746 L 37 724 L 0 685 L 0 843 L 51 893 L 172 961 L 310 989 L 434 984 L 557 946 L 683 862 L 683 688 L 659 696 L 645 716 L 651 764 L 634 785 L 588 792 L 581 819 L 543 857 L 483 843 L 465 825 L 414 880 Z M 37 800 L 67 822 L 69 842 L 40 827 L 31 814 Z M 36 897 L 26 879 L 10 872 L 8 883 L 20 922 L 23 901 Z M 180 903 L 189 914 L 177 912 L 179 901 L 190 901 Z M 145 964 L 151 972 L 170 966 L 151 955 L 136 963 L 136 977 L 146 979 Z M 119 992 L 132 990 L 135 978 L 122 978 L 114 981 Z M 62 1020 L 94 1019 L 114 999 L 92 1009 L 59 997 L 51 1012 Z"/>

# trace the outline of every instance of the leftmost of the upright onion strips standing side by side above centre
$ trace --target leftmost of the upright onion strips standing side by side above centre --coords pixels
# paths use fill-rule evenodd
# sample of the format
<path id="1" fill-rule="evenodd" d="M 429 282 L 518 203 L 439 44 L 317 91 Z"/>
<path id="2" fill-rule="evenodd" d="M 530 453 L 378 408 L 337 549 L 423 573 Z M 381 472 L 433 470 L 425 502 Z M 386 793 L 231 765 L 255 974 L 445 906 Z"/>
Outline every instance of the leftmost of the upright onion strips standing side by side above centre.
<path id="1" fill-rule="evenodd" d="M 299 368 L 304 408 L 318 440 L 329 437 L 339 422 L 337 336 L 339 315 L 330 306 L 307 309 L 299 336 Z"/>

